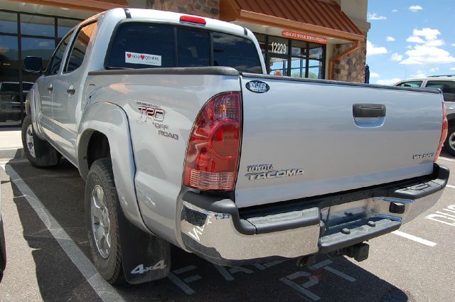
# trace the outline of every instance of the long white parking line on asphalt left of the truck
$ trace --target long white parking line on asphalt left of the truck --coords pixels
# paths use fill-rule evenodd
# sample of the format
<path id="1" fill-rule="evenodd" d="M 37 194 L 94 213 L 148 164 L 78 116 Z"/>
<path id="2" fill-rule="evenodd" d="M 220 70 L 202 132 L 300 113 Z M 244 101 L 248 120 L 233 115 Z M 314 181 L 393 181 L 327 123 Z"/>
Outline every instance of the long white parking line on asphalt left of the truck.
<path id="1" fill-rule="evenodd" d="M 31 205 L 33 210 L 35 210 L 38 217 L 47 227 L 48 231 L 55 240 L 60 244 L 63 251 L 68 255 L 68 258 L 73 261 L 73 264 L 79 269 L 82 275 L 87 279 L 87 282 L 92 286 L 93 290 L 97 293 L 102 301 L 118 301 L 123 302 L 124 299 L 122 296 L 117 293 L 117 290 L 112 287 L 110 284 L 105 281 L 105 279 L 97 273 L 95 266 L 92 262 L 85 257 L 85 254 L 77 247 L 73 242 L 70 236 L 60 227 L 60 224 L 55 220 L 55 218 L 50 215 L 50 212 L 46 210 L 41 201 L 36 197 L 31 188 L 26 185 L 26 183 L 21 179 L 20 176 L 14 171 L 14 169 L 8 164 L 5 167 L 6 173 L 11 178 L 11 181 L 16 185 L 16 187 L 24 195 L 28 203 Z"/>

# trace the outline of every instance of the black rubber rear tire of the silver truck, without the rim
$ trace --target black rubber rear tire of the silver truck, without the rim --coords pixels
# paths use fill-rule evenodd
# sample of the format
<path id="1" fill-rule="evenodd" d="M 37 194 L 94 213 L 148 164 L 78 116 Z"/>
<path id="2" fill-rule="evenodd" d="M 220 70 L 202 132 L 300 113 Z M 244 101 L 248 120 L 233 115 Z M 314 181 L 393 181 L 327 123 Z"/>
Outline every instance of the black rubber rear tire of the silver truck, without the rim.
<path id="1" fill-rule="evenodd" d="M 92 193 L 99 185 L 104 193 L 104 203 L 109 216 L 110 251 L 107 258 L 102 257 L 95 241 L 93 227 L 98 225 L 92 221 Z M 109 158 L 100 158 L 92 163 L 85 183 L 85 213 L 92 259 L 97 271 L 109 284 L 124 283 L 122 266 L 122 250 L 120 247 L 117 205 L 119 205 L 117 189 L 114 183 L 112 163 Z"/>

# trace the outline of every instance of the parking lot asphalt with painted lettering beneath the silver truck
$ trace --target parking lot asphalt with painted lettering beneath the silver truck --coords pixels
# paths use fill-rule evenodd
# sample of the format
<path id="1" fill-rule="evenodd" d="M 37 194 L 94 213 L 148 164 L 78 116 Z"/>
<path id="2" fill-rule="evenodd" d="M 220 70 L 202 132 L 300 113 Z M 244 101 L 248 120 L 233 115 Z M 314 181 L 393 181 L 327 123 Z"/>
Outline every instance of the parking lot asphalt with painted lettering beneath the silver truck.
<path id="1" fill-rule="evenodd" d="M 442 156 L 455 171 L 455 158 Z M 173 248 L 168 278 L 113 287 L 90 262 L 77 169 L 68 161 L 38 169 L 21 158 L 0 165 L 8 258 L 0 301 L 455 301 L 454 174 L 437 205 L 370 240 L 360 263 L 320 257 L 309 268 L 293 260 L 220 267 Z"/>

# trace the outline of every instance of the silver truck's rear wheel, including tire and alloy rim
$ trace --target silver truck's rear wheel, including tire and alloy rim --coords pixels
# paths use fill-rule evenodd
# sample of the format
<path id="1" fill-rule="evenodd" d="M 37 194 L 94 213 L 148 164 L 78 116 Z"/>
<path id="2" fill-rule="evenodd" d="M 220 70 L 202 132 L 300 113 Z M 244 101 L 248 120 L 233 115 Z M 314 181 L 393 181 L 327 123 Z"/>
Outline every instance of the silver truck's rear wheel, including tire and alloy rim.
<path id="1" fill-rule="evenodd" d="M 111 161 L 100 158 L 92 163 L 85 183 L 85 213 L 93 263 L 110 284 L 124 281 L 118 204 Z"/>

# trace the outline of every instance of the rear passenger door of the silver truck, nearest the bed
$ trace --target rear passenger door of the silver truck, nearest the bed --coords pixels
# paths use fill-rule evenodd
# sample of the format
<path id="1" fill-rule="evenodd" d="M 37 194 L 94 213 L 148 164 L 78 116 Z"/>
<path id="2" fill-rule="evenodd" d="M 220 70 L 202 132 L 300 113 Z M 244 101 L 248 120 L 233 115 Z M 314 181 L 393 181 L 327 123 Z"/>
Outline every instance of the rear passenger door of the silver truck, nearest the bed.
<path id="1" fill-rule="evenodd" d="M 55 121 L 54 139 L 70 161 L 75 161 L 76 156 L 77 118 L 80 118 L 82 112 L 82 108 L 77 104 L 80 104 L 83 80 L 87 75 L 85 53 L 96 28 L 96 22 L 80 27 L 68 51 L 62 74 L 54 82 L 52 100 Z"/>

